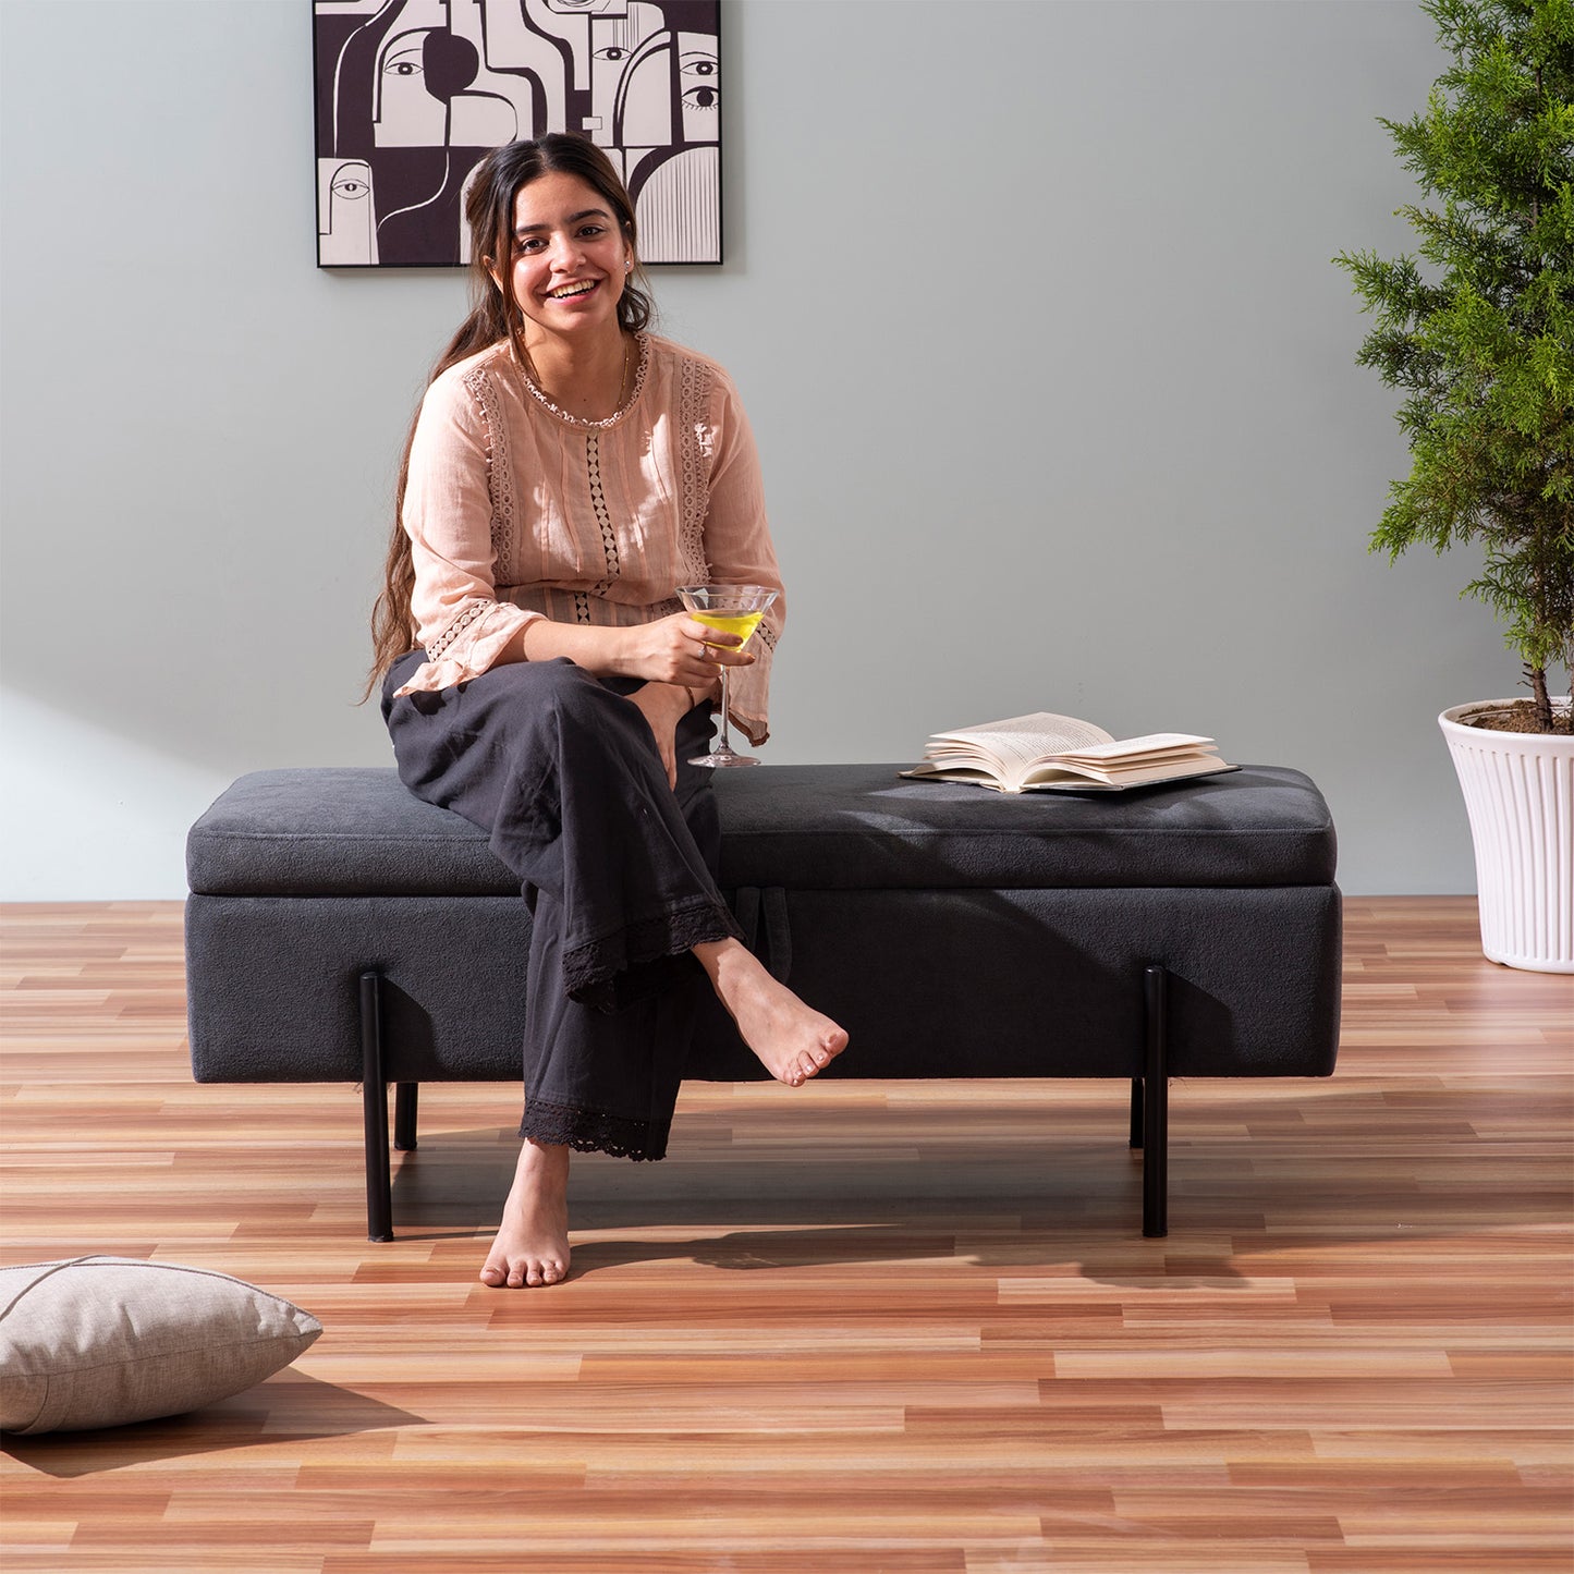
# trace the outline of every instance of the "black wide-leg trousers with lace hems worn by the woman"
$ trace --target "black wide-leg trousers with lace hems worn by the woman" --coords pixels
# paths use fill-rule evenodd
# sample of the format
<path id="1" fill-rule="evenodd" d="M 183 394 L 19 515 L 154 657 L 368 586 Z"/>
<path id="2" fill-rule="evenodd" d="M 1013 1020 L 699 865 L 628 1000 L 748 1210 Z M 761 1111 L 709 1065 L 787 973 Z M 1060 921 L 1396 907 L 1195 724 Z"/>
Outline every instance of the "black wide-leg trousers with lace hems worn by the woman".
<path id="1" fill-rule="evenodd" d="M 530 905 L 519 1135 L 661 1158 L 710 987 L 689 948 L 740 933 L 716 888 L 711 773 L 688 763 L 708 707 L 678 724 L 674 792 L 625 697 L 636 680 L 521 661 L 394 699 L 423 660 L 382 686 L 400 779 L 483 826 Z"/>

